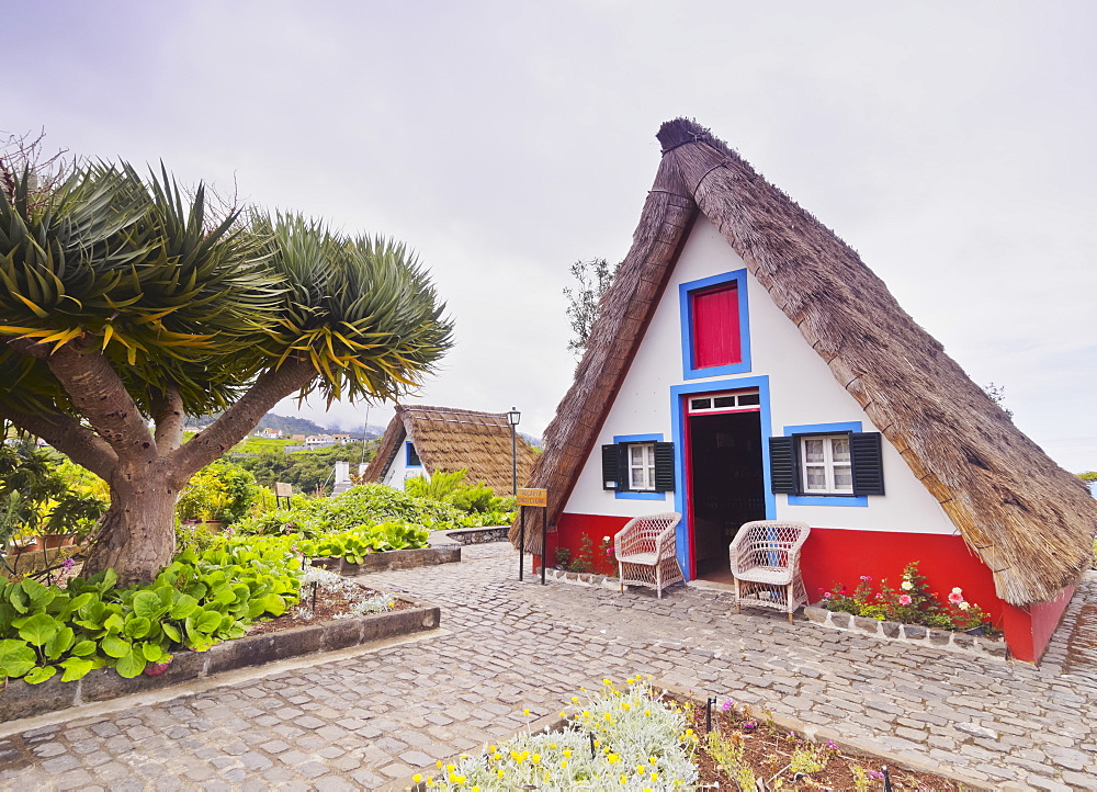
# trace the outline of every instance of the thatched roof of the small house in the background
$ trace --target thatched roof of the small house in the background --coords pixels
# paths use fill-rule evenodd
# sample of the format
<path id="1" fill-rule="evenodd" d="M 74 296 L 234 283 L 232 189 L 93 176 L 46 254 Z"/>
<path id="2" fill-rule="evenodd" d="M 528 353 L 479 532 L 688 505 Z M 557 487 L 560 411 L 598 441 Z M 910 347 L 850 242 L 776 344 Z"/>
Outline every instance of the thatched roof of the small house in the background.
<path id="1" fill-rule="evenodd" d="M 389 464 L 410 440 L 428 473 L 467 471 L 470 484 L 484 482 L 496 495 L 510 495 L 510 425 L 506 412 L 476 412 L 452 407 L 397 405 L 388 422 L 377 455 L 365 468 L 365 480 L 380 480 Z M 536 454 L 518 438 L 518 486 L 533 469 Z"/>

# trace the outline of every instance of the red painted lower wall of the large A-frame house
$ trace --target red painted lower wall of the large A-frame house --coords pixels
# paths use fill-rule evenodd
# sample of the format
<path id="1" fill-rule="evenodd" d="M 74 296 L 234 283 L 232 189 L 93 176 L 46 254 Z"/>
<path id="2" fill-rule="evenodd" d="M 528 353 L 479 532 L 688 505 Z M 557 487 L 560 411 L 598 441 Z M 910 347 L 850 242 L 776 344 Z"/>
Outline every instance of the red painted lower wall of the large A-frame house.
<path id="1" fill-rule="evenodd" d="M 556 563 L 556 547 L 567 547 L 574 557 L 586 535 L 601 563 L 596 563 L 593 572 L 611 572 L 604 558 L 597 558 L 597 547 L 602 536 L 612 536 L 627 521 L 627 517 L 612 514 L 562 514 L 556 533 L 548 539 L 550 565 Z M 1011 655 L 1021 660 L 1036 661 L 1043 655 L 1074 592 L 1064 589 L 1055 599 L 1028 609 L 1010 606 L 995 595 L 991 570 L 963 539 L 931 533 L 815 528 L 804 544 L 801 569 L 807 596 L 816 602 L 835 586 L 852 590 L 862 575 L 872 577 L 874 587 L 886 578 L 897 588 L 903 567 L 912 561 L 919 562 L 918 570 L 941 602 L 953 587 L 962 588 L 964 599 L 989 613 L 995 626 L 1005 631 Z"/>

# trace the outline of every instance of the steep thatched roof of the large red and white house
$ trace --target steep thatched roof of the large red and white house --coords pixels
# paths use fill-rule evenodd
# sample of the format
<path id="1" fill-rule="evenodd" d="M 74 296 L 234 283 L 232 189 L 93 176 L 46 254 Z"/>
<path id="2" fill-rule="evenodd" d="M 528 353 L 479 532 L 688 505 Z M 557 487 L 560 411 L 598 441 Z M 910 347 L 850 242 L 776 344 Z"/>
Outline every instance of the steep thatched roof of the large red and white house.
<path id="1" fill-rule="evenodd" d="M 1053 597 L 1093 557 L 1097 501 L 911 318 L 858 254 L 698 124 L 663 159 L 532 487 L 555 522 L 703 213 L 940 502 L 1013 604 Z"/>

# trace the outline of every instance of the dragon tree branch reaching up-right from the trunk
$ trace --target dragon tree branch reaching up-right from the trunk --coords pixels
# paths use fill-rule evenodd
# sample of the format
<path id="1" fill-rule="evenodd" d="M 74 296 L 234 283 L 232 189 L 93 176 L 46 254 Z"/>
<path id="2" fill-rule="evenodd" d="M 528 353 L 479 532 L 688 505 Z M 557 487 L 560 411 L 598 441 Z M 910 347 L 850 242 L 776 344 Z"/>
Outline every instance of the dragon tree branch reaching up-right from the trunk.
<path id="1" fill-rule="evenodd" d="M 244 440 L 274 405 L 301 391 L 316 374 L 312 363 L 298 358 L 264 372 L 220 418 L 172 451 L 167 457 L 168 468 L 184 478 L 192 476 Z"/>

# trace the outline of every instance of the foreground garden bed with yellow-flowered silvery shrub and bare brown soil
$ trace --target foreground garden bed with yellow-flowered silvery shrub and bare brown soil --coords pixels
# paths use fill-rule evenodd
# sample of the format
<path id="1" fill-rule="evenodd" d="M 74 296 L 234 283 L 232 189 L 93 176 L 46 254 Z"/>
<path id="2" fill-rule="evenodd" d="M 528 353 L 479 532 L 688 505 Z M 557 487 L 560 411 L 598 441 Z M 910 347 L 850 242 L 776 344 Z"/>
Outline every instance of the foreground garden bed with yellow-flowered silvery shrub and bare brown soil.
<path id="1" fill-rule="evenodd" d="M 646 691 L 646 692 L 645 692 Z M 474 756 L 425 768 L 417 792 L 512 789 L 901 790 L 989 789 L 934 762 L 900 759 L 749 705 L 693 691 L 604 680 L 573 714 L 546 715 Z M 530 715 L 529 710 L 525 711 Z M 716 735 L 716 736 L 711 736 Z M 886 768 L 886 771 L 884 770 Z M 394 781 L 384 789 L 408 789 Z"/>

